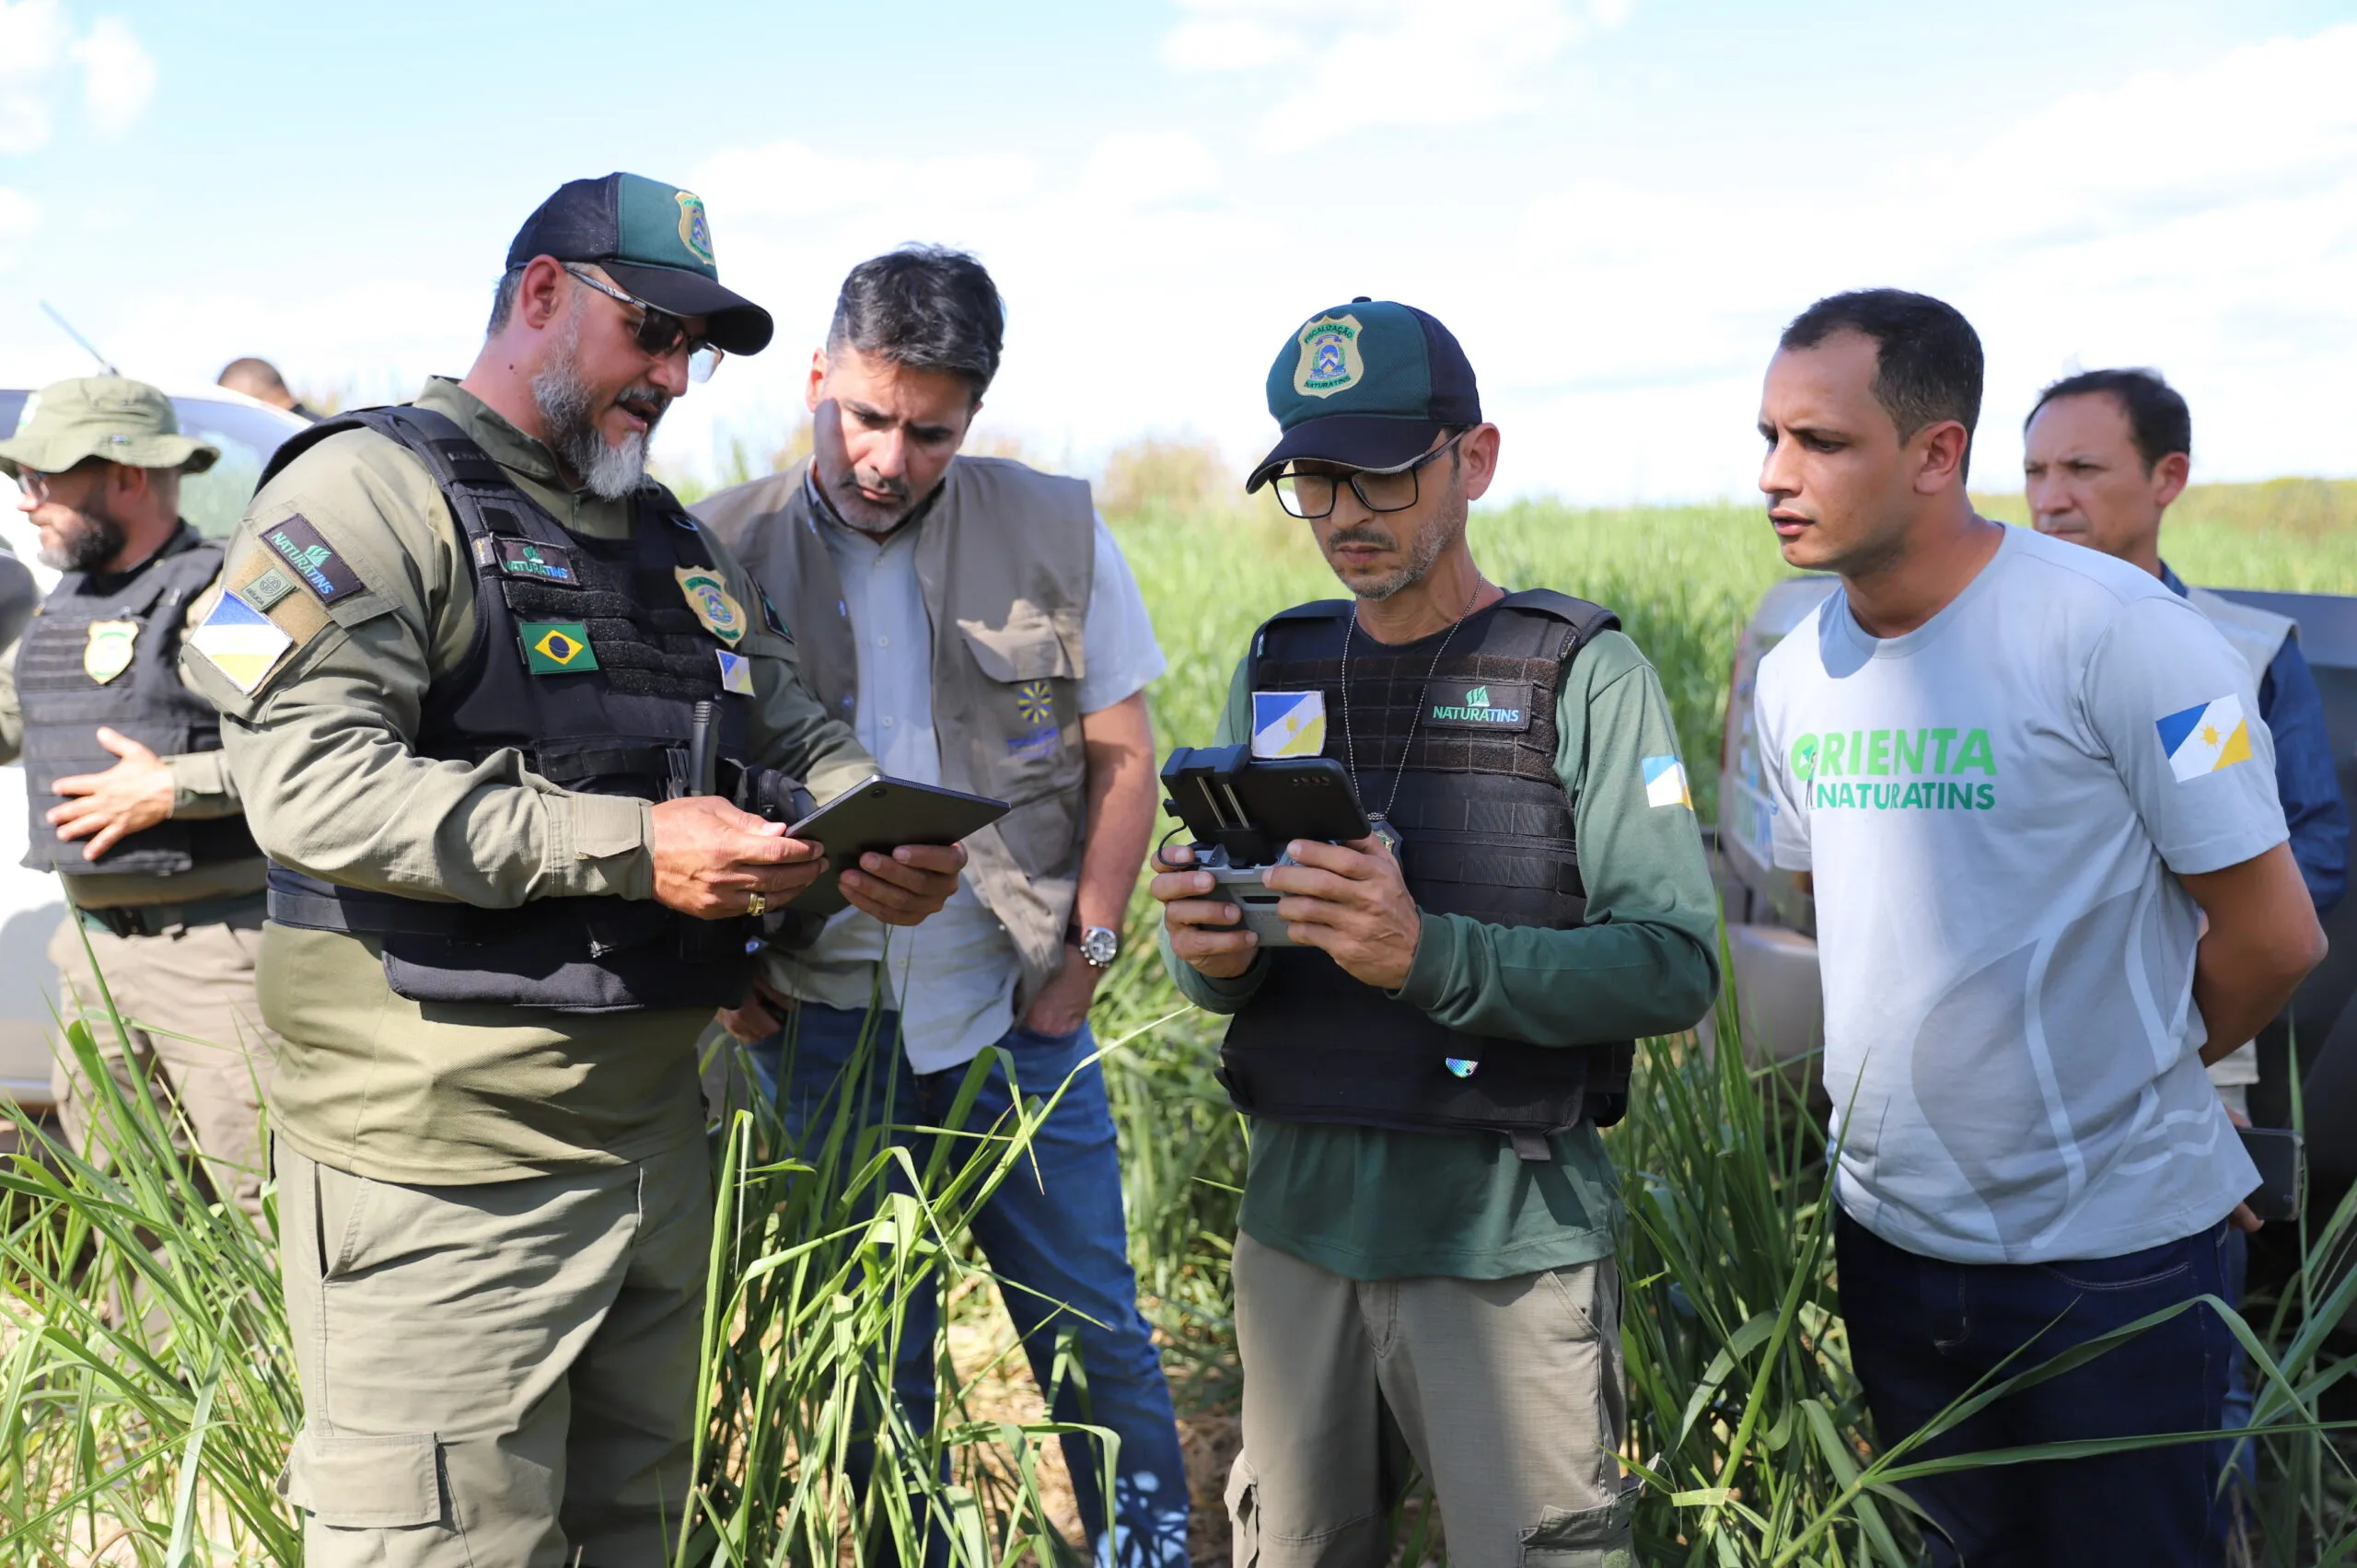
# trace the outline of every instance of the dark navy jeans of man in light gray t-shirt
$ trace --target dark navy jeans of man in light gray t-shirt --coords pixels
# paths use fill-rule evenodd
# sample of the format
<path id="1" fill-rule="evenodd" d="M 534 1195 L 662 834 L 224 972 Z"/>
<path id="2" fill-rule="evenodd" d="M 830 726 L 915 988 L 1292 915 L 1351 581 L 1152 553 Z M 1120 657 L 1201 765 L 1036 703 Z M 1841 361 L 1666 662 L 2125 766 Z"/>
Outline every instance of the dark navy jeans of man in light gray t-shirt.
<path id="1" fill-rule="evenodd" d="M 1992 1372 L 2027 1372 L 2176 1302 L 2199 1294 L 2227 1299 L 2225 1238 L 2220 1221 L 2121 1257 L 1945 1264 L 1893 1247 L 1841 1214 L 1834 1243 L 1841 1316 L 1876 1436 L 1886 1448 L 1897 1443 Z M 2197 1306 L 2081 1368 L 1996 1401 L 1909 1457 L 2216 1431 L 2225 1415 L 2232 1344 L 2218 1313 Z M 2001 1372 L 1999 1363 L 2006 1363 Z M 1966 1469 L 1904 1488 L 1930 1514 L 1926 1537 L 1930 1563 L 1940 1568 L 2223 1568 L 2230 1509 L 2218 1478 L 2225 1457 L 2227 1445 L 2211 1438 L 2091 1460 Z"/>

